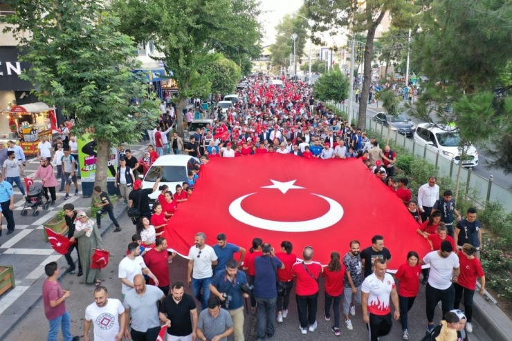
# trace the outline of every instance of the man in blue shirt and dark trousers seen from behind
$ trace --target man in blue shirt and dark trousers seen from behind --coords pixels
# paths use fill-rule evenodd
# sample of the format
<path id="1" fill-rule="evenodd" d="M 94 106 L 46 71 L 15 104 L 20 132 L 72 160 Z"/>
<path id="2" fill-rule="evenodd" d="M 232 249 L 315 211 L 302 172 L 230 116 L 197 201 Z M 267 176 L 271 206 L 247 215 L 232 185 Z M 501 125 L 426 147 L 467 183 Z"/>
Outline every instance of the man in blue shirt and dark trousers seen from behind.
<path id="1" fill-rule="evenodd" d="M 321 148 L 321 147 L 320 147 Z M 275 305 L 277 304 L 277 269 L 284 269 L 284 264 L 272 257 L 271 244 L 262 244 L 262 255 L 254 260 L 255 280 L 254 297 L 257 304 L 257 338 L 258 341 L 274 335 Z"/>

